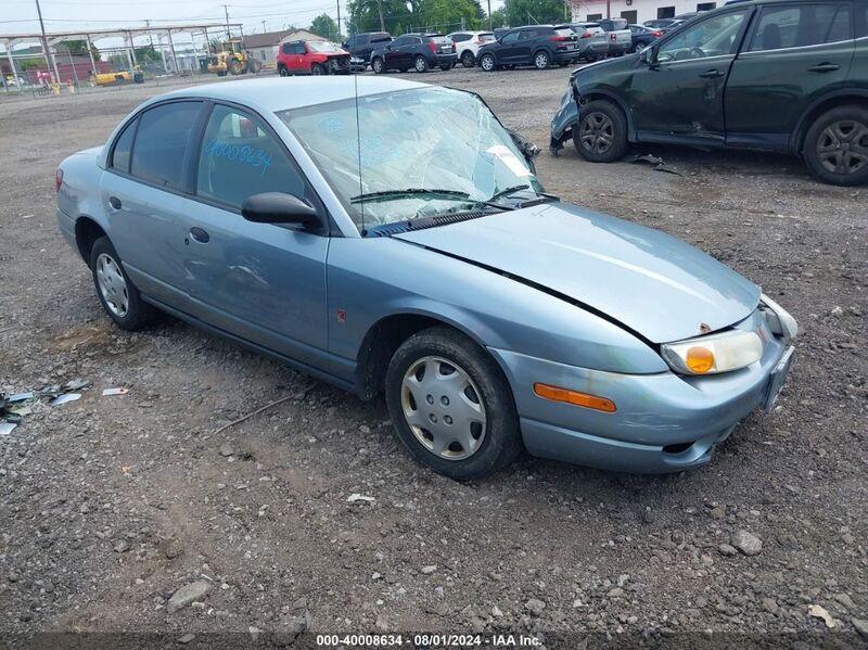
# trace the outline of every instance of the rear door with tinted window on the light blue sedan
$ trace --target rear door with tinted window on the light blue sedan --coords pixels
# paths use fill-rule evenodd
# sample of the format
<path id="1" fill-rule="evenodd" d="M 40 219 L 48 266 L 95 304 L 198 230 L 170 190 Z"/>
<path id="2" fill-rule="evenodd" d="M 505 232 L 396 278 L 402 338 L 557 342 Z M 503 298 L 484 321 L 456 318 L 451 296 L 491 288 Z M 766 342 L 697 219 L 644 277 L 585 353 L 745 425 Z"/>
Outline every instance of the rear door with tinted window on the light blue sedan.
<path id="1" fill-rule="evenodd" d="M 179 309 L 187 303 L 184 169 L 204 105 L 174 101 L 143 111 L 116 140 L 101 180 L 112 243 L 133 284 Z"/>

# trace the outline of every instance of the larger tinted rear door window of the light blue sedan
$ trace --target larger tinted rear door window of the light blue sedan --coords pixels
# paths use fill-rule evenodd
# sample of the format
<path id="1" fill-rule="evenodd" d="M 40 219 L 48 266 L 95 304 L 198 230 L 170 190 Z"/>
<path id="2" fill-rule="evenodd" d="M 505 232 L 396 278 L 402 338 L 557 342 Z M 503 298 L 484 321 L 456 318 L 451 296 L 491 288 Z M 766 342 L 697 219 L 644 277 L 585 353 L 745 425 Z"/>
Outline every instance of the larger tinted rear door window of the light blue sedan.
<path id="1" fill-rule="evenodd" d="M 166 188 L 180 189 L 190 132 L 201 109 L 201 102 L 173 102 L 142 113 L 130 173 Z"/>

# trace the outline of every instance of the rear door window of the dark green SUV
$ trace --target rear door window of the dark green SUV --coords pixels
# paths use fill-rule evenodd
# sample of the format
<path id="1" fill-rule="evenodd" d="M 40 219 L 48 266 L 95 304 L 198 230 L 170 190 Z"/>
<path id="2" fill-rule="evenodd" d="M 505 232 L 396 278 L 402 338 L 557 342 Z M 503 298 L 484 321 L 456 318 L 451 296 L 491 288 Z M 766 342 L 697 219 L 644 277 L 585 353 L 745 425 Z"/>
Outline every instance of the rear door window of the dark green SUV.
<path id="1" fill-rule="evenodd" d="M 751 38 L 751 52 L 803 48 L 853 38 L 850 4 L 769 7 Z"/>

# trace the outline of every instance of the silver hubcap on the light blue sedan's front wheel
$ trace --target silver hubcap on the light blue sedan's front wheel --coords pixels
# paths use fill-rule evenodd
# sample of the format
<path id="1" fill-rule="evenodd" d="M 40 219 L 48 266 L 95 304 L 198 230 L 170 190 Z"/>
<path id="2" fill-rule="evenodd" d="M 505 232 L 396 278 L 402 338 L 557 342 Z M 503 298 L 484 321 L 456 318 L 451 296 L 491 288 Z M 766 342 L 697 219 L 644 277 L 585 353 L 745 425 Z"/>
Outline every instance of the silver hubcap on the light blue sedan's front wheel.
<path id="1" fill-rule="evenodd" d="M 407 369 L 401 382 L 401 410 L 422 446 L 446 460 L 463 460 L 485 438 L 482 393 L 455 361 L 425 356 Z"/>

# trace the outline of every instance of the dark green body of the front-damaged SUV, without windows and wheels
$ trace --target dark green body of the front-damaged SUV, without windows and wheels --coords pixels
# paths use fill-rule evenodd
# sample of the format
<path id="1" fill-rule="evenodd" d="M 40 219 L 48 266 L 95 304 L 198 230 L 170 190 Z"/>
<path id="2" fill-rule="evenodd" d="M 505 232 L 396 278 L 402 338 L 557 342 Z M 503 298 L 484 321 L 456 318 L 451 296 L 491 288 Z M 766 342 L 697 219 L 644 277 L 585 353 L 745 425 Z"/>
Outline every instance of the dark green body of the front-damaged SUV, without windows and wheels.
<path id="1" fill-rule="evenodd" d="M 763 12 L 799 5 L 848 8 L 850 37 L 837 42 L 750 51 Z M 728 52 L 658 61 L 679 35 L 724 15 L 742 15 Z M 813 119 L 831 107 L 868 107 L 868 0 L 748 0 L 730 2 L 666 34 L 646 51 L 576 71 L 570 98 L 551 124 L 562 148 L 582 106 L 617 104 L 629 142 L 661 142 L 789 152 L 800 155 Z M 570 101 L 569 101 L 570 100 Z"/>

